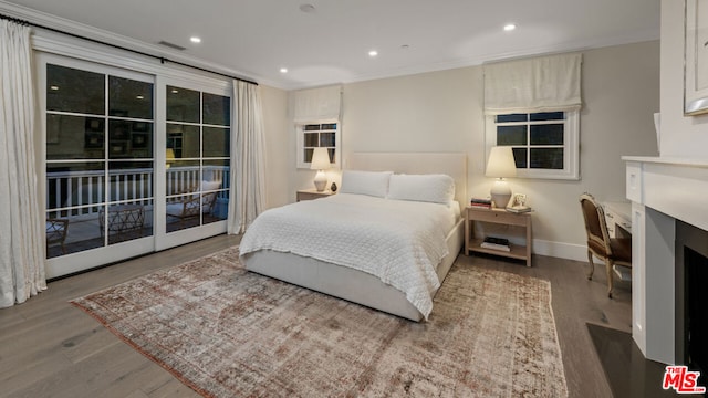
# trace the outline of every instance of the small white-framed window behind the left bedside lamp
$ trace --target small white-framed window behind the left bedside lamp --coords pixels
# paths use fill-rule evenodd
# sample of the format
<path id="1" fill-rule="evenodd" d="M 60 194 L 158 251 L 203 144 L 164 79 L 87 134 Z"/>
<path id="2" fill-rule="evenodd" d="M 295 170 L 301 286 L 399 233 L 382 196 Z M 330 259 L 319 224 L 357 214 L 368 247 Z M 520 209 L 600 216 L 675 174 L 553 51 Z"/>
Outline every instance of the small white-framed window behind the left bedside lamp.
<path id="1" fill-rule="evenodd" d="M 340 166 L 339 123 L 310 123 L 298 125 L 298 167 L 310 168 L 314 148 L 324 147 L 330 153 L 330 163 Z"/>

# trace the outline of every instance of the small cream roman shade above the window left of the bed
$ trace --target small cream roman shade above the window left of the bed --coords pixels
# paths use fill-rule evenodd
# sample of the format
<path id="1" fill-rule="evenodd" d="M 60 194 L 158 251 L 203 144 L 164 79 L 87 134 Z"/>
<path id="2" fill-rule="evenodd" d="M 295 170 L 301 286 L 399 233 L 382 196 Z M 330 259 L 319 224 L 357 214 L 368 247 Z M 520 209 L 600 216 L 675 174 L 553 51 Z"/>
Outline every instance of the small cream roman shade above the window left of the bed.
<path id="1" fill-rule="evenodd" d="M 340 85 L 300 90 L 294 93 L 295 124 L 339 122 L 342 105 Z"/>

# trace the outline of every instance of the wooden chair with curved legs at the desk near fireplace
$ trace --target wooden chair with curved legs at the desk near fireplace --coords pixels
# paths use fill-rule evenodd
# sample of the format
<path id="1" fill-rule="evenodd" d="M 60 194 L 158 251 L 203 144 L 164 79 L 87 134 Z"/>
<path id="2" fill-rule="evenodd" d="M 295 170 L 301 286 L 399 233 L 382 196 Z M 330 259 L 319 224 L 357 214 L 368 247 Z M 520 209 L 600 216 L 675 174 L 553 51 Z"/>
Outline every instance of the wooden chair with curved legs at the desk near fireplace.
<path id="1" fill-rule="evenodd" d="M 587 262 L 590 263 L 587 280 L 593 279 L 593 272 L 595 271 L 593 255 L 595 255 L 605 262 L 607 296 L 612 298 L 614 265 L 632 268 L 632 238 L 610 238 L 605 212 L 592 195 L 581 195 L 580 205 L 583 210 L 585 232 L 587 234 Z"/>

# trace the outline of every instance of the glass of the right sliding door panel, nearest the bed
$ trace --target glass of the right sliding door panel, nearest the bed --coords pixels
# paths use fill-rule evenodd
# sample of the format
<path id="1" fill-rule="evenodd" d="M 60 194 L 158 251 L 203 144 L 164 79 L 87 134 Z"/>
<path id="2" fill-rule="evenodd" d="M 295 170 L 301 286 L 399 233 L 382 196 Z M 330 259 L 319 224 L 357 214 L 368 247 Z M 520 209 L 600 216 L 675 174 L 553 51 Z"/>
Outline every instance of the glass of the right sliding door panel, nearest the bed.
<path id="1" fill-rule="evenodd" d="M 165 230 L 226 220 L 231 98 L 174 85 L 165 96 Z"/>

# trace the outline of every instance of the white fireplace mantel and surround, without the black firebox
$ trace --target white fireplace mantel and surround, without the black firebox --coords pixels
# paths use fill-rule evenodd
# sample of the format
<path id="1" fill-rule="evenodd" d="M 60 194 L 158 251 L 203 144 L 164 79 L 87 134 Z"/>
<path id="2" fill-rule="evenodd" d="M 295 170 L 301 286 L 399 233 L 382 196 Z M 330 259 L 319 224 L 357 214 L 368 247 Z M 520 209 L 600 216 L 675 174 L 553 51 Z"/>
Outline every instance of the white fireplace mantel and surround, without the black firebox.
<path id="1" fill-rule="evenodd" d="M 632 335 L 644 355 L 676 364 L 676 219 L 708 230 L 708 159 L 624 156 L 632 201 Z"/>

